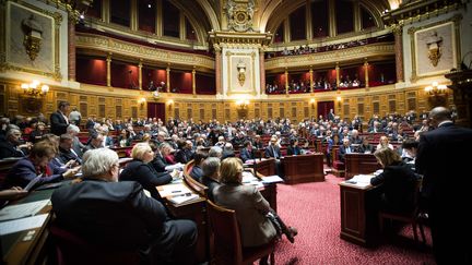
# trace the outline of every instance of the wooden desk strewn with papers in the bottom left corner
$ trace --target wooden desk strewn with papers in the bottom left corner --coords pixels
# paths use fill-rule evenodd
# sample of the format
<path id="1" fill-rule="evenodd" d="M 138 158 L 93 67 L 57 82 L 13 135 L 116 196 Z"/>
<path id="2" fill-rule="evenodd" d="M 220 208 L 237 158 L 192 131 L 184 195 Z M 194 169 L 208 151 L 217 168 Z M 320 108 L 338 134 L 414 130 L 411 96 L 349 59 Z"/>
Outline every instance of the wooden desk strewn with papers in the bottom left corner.
<path id="1" fill-rule="evenodd" d="M 34 191 L 27 197 L 15 202 L 15 204 L 50 198 L 54 191 L 54 189 Z M 31 230 L 1 236 L 1 252 L 5 264 L 39 264 L 45 260 L 47 249 L 45 246 L 49 237 L 48 227 L 52 215 L 50 213 L 51 208 L 50 205 L 47 205 L 38 213 L 38 215 L 48 214 L 48 217 L 42 227 L 32 229 L 35 231 L 32 240 L 22 240 Z"/>

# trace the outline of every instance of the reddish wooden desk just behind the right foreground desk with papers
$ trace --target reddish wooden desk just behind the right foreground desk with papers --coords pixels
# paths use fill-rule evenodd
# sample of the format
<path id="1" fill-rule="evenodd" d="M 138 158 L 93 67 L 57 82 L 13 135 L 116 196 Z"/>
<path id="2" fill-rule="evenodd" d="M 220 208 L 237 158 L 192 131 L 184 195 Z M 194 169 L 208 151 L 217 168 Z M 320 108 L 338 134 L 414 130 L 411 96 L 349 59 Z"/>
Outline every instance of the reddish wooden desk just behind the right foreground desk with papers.
<path id="1" fill-rule="evenodd" d="M 356 174 L 367 174 L 381 169 L 380 164 L 373 154 L 345 154 L 345 179 L 349 180 Z"/>

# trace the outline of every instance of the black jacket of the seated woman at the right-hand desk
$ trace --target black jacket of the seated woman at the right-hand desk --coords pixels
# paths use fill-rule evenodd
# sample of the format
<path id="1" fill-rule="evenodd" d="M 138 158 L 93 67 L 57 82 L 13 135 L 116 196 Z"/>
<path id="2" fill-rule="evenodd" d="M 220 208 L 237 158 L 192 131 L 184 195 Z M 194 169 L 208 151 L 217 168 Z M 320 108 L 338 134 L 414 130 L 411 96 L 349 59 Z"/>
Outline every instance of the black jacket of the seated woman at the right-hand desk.
<path id="1" fill-rule="evenodd" d="M 370 184 L 381 184 L 382 208 L 397 213 L 413 209 L 416 176 L 402 161 L 385 167 L 382 173 L 370 179 Z"/>

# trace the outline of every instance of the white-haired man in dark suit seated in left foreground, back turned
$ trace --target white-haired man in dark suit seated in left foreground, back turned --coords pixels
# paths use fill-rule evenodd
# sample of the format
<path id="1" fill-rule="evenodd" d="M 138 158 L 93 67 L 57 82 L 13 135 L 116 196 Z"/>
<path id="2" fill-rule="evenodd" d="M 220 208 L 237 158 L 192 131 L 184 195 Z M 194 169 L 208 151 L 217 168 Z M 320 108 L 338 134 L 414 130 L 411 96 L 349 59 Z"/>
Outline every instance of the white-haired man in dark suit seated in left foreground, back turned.
<path id="1" fill-rule="evenodd" d="M 141 184 L 118 182 L 114 150 L 88 150 L 83 160 L 83 181 L 52 194 L 58 226 L 95 244 L 139 250 L 150 264 L 193 264 L 193 221 L 170 220 Z"/>

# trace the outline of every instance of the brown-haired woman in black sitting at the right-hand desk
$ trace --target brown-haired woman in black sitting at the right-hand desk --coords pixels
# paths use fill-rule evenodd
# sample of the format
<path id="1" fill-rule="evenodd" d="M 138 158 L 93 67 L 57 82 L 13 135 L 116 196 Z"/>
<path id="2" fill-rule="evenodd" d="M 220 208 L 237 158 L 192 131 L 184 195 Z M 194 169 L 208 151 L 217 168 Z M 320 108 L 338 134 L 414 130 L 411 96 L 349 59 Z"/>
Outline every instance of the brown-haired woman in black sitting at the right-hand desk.
<path id="1" fill-rule="evenodd" d="M 379 208 L 393 213 L 408 213 L 414 207 L 416 176 L 390 148 L 380 148 L 374 153 L 384 172 L 370 179 L 370 184 L 381 184 Z"/>

